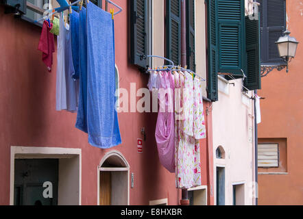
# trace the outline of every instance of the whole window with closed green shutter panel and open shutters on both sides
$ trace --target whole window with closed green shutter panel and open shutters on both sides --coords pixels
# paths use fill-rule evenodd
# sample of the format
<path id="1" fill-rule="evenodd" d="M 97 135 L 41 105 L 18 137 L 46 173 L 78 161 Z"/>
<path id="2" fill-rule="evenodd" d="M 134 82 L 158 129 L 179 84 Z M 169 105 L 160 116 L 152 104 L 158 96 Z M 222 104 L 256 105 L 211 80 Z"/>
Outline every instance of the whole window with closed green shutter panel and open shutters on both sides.
<path id="1" fill-rule="evenodd" d="M 218 74 L 260 89 L 260 26 L 245 18 L 244 0 L 208 0 L 208 99 L 218 100 Z"/>

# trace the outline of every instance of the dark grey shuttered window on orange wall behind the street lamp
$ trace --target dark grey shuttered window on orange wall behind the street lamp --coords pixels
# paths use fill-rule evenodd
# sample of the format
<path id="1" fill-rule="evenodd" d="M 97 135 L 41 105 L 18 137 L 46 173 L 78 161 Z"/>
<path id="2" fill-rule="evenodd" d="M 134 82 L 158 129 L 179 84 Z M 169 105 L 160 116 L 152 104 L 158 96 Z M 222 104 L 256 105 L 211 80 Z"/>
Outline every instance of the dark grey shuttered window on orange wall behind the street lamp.
<path id="1" fill-rule="evenodd" d="M 276 41 L 286 30 L 285 0 L 257 0 L 260 5 L 261 63 L 264 65 L 284 64 L 280 58 Z"/>

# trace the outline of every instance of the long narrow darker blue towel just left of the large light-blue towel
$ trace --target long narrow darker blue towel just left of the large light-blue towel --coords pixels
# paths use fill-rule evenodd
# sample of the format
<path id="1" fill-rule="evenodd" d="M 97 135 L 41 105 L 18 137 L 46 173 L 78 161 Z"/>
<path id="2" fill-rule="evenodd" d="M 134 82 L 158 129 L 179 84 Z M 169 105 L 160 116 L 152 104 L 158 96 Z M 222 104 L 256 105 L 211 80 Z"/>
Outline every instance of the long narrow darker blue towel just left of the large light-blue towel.
<path id="1" fill-rule="evenodd" d="M 87 133 L 87 34 L 86 8 L 84 7 L 79 14 L 79 68 L 79 106 L 75 127 Z"/>

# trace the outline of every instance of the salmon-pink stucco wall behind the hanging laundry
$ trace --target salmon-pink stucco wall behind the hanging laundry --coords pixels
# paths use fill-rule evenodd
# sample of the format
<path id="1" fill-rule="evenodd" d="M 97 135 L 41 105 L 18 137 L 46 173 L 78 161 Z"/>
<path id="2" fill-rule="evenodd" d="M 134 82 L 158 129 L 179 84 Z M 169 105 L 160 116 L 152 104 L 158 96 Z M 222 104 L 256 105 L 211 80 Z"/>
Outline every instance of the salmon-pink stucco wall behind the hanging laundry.
<path id="1" fill-rule="evenodd" d="M 146 87 L 148 76 L 128 62 L 128 1 L 116 1 L 124 9 L 115 16 L 116 63 L 120 87 L 130 83 Z M 75 129 L 76 114 L 56 112 L 56 53 L 52 73 L 48 73 L 37 50 L 41 28 L 4 14 L 0 6 L 0 205 L 10 199 L 10 146 L 51 146 L 82 149 L 82 205 L 97 204 L 97 166 L 111 150 L 120 151 L 135 175 L 130 189 L 131 205 L 168 198 L 178 205 L 180 190 L 175 175 L 160 165 L 154 138 L 157 114 L 121 113 L 119 126 L 123 144 L 101 150 L 90 146 L 87 135 Z M 139 98 L 138 98 L 139 99 Z M 137 153 L 141 127 L 147 133 L 143 153 Z M 211 134 L 211 133 L 210 133 Z M 206 179 L 206 140 L 202 141 L 202 182 Z"/>

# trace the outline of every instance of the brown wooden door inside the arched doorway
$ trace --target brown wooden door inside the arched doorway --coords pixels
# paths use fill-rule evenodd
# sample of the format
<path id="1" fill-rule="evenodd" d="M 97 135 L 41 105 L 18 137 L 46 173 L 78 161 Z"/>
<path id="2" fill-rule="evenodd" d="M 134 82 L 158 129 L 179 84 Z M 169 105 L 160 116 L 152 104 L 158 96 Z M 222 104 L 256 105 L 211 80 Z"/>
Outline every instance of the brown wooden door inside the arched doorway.
<path id="1" fill-rule="evenodd" d="M 112 176 L 111 172 L 100 172 L 100 205 L 111 205 Z"/>

